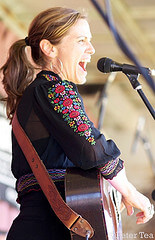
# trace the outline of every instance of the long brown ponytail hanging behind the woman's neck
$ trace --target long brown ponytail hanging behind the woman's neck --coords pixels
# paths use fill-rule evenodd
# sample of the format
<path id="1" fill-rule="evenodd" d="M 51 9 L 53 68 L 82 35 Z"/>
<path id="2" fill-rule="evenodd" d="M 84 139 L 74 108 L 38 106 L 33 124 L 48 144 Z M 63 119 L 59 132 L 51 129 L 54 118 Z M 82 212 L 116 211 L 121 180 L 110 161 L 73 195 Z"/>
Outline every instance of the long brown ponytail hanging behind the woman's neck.
<path id="1" fill-rule="evenodd" d="M 7 93 L 7 97 L 1 100 L 6 101 L 7 117 L 10 120 L 24 90 L 33 80 L 34 66 L 28 61 L 25 47 L 24 39 L 16 41 L 9 50 L 6 63 L 0 69 L 3 73 L 2 83 Z"/>

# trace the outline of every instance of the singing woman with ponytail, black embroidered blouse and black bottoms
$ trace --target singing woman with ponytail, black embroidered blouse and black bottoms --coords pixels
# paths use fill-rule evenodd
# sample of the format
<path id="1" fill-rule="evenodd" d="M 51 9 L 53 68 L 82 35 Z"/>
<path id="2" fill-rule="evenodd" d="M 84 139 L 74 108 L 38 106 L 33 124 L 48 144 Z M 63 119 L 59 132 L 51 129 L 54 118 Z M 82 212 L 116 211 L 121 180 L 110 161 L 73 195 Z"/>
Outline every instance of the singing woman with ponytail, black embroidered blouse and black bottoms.
<path id="1" fill-rule="evenodd" d="M 128 182 L 119 149 L 93 126 L 76 87 L 86 82 L 86 65 L 95 52 L 91 37 L 86 17 L 78 11 L 51 8 L 41 12 L 32 21 L 28 37 L 13 44 L 2 67 L 7 115 L 12 120 L 17 111 L 20 124 L 51 177 L 57 179 L 55 184 L 63 197 L 67 167 L 95 167 L 120 191 L 128 215 L 138 208 L 137 223 L 145 223 L 154 212 L 150 201 Z M 28 48 L 33 64 L 28 60 Z M 14 135 L 12 149 L 12 172 L 21 207 L 7 240 L 70 239 Z"/>

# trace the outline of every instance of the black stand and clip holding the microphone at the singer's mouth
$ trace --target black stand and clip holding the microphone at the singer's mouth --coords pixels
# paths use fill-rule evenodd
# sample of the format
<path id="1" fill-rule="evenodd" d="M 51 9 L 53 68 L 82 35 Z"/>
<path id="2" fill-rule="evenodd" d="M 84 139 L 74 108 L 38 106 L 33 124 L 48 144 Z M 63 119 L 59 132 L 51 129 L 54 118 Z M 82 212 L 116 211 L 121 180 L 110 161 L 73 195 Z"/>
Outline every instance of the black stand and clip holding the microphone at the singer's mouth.
<path id="1" fill-rule="evenodd" d="M 124 73 L 124 74 L 128 77 L 133 89 L 137 90 L 138 94 L 140 95 L 140 97 L 143 100 L 144 104 L 146 105 L 147 109 L 151 113 L 152 117 L 155 119 L 155 111 L 154 111 L 153 107 L 151 106 L 150 102 L 148 101 L 147 97 L 145 96 L 145 94 L 142 90 L 142 85 L 137 80 L 139 77 L 139 74 L 128 74 L 128 73 Z"/>

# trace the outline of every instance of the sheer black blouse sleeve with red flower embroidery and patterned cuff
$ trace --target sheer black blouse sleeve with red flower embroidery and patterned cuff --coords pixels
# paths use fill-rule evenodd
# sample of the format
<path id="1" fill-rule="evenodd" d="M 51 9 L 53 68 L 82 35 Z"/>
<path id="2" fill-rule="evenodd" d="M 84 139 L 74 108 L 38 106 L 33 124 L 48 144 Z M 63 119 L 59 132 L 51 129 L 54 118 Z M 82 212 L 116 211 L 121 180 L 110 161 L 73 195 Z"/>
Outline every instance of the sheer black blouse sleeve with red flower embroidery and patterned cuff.
<path id="1" fill-rule="evenodd" d="M 61 79 L 47 81 L 36 87 L 35 100 L 43 112 L 42 121 L 46 118 L 46 127 L 77 167 L 98 167 L 106 178 L 123 168 L 119 149 L 89 120 L 75 84 Z"/>

